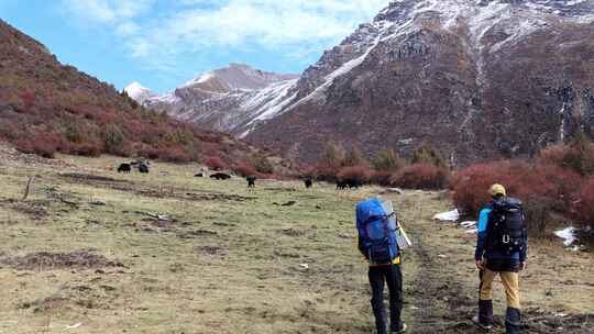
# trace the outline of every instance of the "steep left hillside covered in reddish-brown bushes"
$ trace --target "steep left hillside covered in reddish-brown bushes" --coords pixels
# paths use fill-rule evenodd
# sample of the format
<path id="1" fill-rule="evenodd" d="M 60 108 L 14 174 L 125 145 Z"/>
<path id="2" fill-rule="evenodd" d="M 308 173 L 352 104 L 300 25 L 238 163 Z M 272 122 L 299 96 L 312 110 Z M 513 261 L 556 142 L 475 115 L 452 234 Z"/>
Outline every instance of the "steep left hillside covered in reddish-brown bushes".
<path id="1" fill-rule="evenodd" d="M 0 141 L 44 157 L 106 153 L 217 160 L 219 167 L 243 169 L 268 162 L 271 155 L 227 134 L 145 110 L 113 86 L 62 65 L 44 45 L 1 20 Z"/>

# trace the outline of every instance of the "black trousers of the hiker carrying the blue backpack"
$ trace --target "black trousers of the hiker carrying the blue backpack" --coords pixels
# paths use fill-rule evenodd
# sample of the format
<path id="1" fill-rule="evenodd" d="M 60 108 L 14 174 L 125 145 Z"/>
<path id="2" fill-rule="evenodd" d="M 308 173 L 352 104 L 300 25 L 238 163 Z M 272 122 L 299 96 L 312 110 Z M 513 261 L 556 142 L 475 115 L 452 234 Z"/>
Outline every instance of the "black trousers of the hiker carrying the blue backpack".
<path id="1" fill-rule="evenodd" d="M 371 304 L 378 334 L 386 333 L 384 282 L 387 283 L 389 291 L 389 329 L 397 332 L 400 330 L 400 311 L 403 309 L 403 272 L 400 271 L 400 265 L 370 267 Z"/>

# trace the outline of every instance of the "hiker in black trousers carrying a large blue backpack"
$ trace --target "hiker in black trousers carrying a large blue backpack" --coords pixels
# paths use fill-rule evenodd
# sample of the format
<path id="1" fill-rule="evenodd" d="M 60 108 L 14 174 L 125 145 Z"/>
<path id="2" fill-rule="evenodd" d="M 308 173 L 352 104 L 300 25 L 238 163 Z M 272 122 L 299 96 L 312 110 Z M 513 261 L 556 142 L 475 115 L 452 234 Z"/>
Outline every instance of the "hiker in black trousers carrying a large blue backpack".
<path id="1" fill-rule="evenodd" d="M 377 333 L 387 334 L 386 308 L 384 305 L 385 285 L 389 291 L 389 331 L 391 333 L 404 333 L 406 324 L 400 321 L 403 272 L 398 243 L 403 237 L 406 238 L 406 234 L 400 232 L 392 203 L 383 202 L 378 198 L 358 203 L 356 229 L 359 231 L 359 250 L 370 264 L 371 304 Z M 408 242 L 407 238 L 404 243 L 406 242 Z"/>

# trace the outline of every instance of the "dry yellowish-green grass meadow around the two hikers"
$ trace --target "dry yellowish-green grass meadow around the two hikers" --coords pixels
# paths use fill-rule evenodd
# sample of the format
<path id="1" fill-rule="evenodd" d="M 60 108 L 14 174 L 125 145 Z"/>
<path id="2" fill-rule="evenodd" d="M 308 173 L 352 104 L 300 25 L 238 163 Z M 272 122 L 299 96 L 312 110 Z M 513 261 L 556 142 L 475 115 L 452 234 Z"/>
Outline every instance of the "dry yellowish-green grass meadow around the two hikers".
<path id="1" fill-rule="evenodd" d="M 331 186 L 306 190 L 300 182 L 262 181 L 251 192 L 242 179 L 194 178 L 199 167 L 193 165 L 155 164 L 148 176 L 124 176 L 110 169 L 118 158 L 61 158 L 67 164 L 0 162 L 0 258 L 84 250 L 105 260 L 70 267 L 2 261 L 0 333 L 372 331 L 353 204 L 380 188 L 337 194 Z M 125 182 L 64 177 L 72 172 Z M 21 202 L 32 174 L 38 177 Z M 292 207 L 273 204 L 292 200 Z M 426 294 L 438 291 L 431 290 L 439 288 L 437 279 L 424 278 L 453 279 L 443 296 L 458 292 L 468 302 L 476 285 L 474 240 L 430 221 L 449 207 L 435 193 L 407 192 L 394 200 L 419 245 L 405 265 L 405 319 L 417 329 L 411 333 L 466 323 L 465 315 L 446 316 L 449 302 Z M 525 305 L 551 314 L 594 313 L 587 298 L 594 292 L 594 272 L 586 266 L 592 256 L 556 245 L 534 249 Z M 438 257 L 441 253 L 448 258 Z M 110 261 L 122 266 L 101 266 Z M 417 307 L 433 314 L 433 322 L 422 320 Z M 66 329 L 76 323 L 82 325 Z"/>

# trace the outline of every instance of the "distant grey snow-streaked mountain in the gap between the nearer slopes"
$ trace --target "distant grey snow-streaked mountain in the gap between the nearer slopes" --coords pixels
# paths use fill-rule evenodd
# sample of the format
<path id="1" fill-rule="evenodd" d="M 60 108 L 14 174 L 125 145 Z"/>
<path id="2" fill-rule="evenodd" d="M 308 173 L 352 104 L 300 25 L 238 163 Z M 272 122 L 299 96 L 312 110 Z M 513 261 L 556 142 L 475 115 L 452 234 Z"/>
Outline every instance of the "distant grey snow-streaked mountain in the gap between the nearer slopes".
<path id="1" fill-rule="evenodd" d="M 143 104 L 204 127 L 240 135 L 253 122 L 279 110 L 297 78 L 230 64 L 202 74 L 172 93 L 146 99 Z"/>

